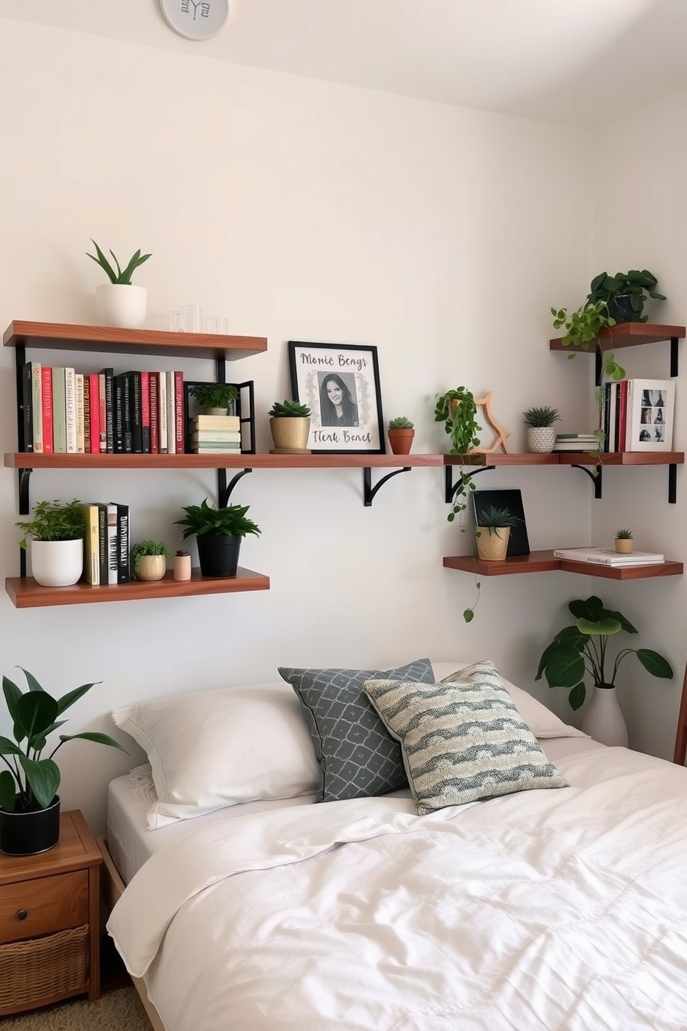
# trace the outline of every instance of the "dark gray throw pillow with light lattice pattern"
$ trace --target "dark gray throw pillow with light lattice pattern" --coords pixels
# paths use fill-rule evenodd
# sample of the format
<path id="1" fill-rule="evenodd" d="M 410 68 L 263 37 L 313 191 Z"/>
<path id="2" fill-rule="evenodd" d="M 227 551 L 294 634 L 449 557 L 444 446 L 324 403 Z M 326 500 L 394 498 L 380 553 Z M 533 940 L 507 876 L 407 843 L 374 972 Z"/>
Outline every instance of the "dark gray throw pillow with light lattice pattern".
<path id="1" fill-rule="evenodd" d="M 319 763 L 317 802 L 386 795 L 407 788 L 401 747 L 363 690 L 366 680 L 434 683 L 428 659 L 386 672 L 374 669 L 294 669 L 279 673 L 298 695 Z"/>

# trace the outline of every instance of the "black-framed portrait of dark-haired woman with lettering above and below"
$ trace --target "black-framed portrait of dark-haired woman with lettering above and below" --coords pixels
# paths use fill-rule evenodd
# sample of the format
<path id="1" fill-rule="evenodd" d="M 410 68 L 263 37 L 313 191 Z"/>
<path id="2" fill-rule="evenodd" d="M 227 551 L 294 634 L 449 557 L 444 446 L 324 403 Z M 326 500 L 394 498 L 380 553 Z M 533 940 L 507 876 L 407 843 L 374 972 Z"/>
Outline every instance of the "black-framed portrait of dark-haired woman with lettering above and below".
<path id="1" fill-rule="evenodd" d="M 294 398 L 310 408 L 308 447 L 320 455 L 384 455 L 377 348 L 288 341 Z"/>

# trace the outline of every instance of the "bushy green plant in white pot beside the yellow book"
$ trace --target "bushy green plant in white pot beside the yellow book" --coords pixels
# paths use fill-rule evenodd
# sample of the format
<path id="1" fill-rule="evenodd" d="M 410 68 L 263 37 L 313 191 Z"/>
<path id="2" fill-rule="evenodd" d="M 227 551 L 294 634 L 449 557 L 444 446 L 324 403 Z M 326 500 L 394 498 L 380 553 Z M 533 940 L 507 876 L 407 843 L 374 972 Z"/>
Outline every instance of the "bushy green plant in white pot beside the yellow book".
<path id="1" fill-rule="evenodd" d="M 41 587 L 70 587 L 83 571 L 85 517 L 80 501 L 39 501 L 33 521 L 16 523 L 24 537 L 31 539 L 31 572 Z"/>

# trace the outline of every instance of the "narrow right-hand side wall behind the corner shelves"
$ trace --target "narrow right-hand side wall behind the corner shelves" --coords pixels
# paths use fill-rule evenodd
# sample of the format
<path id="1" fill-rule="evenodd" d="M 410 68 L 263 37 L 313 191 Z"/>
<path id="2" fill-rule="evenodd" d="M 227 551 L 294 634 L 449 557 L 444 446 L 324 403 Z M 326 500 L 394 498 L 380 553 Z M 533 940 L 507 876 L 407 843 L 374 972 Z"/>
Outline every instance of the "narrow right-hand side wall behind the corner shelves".
<path id="1" fill-rule="evenodd" d="M 682 93 L 605 127 L 598 137 L 595 167 L 594 271 L 607 269 L 613 274 L 628 268 L 650 269 L 667 300 L 649 302 L 649 321 L 671 325 L 684 325 L 687 318 L 687 143 L 680 131 L 686 117 L 687 95 Z M 685 451 L 684 341 L 679 347 L 674 446 Z M 628 347 L 618 352 L 618 358 L 630 376 L 669 377 L 668 343 Z M 684 468 L 678 468 L 674 505 L 667 504 L 665 467 L 612 469 L 604 476 L 604 502 L 592 508 L 594 540 L 608 540 L 619 526 L 630 525 L 639 548 L 687 560 Z M 624 643 L 653 647 L 673 663 L 674 679 L 657 680 L 630 656 L 623 662 L 619 678 L 632 743 L 672 758 L 685 671 L 687 584 L 682 576 L 618 584 L 606 591 L 606 596 L 639 630 L 637 637 L 626 637 Z"/>

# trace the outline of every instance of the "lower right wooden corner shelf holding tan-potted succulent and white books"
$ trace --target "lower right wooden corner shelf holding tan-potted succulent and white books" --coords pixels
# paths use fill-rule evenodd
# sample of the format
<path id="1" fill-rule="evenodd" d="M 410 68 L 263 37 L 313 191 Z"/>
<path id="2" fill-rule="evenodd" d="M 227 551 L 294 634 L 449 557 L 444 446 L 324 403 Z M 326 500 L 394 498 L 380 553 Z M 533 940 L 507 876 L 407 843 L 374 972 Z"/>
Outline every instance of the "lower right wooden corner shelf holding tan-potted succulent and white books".
<path id="1" fill-rule="evenodd" d="M 483 562 L 470 555 L 455 555 L 444 559 L 447 569 L 458 569 L 479 576 L 508 576 L 513 573 L 546 573 L 562 570 L 583 576 L 602 576 L 605 579 L 650 579 L 655 576 L 681 576 L 682 562 L 657 562 L 650 566 L 599 566 L 593 562 L 571 562 L 554 559 L 553 552 L 530 552 L 513 555 L 500 562 Z"/>

